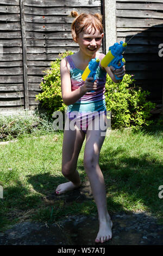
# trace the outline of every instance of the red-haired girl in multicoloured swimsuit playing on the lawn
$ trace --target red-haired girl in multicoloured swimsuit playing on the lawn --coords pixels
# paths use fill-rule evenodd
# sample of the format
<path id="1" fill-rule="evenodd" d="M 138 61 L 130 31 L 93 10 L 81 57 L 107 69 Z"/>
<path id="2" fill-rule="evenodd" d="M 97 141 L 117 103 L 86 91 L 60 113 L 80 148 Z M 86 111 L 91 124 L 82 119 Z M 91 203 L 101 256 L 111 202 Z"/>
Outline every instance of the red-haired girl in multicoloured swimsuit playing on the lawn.
<path id="1" fill-rule="evenodd" d="M 78 111 L 79 117 L 83 117 L 82 125 L 79 121 L 70 129 L 65 129 L 62 144 L 62 174 L 69 180 L 64 184 L 60 184 L 55 192 L 62 194 L 73 190 L 81 185 L 78 173 L 77 161 L 82 144 L 86 136 L 86 144 L 84 150 L 84 168 L 89 177 L 91 190 L 98 210 L 99 231 L 95 242 L 105 242 L 111 239 L 112 221 L 108 213 L 106 204 L 106 193 L 104 178 L 99 167 L 99 153 L 102 148 L 105 136 L 102 135 L 101 125 L 99 129 L 95 129 L 99 120 L 106 123 L 106 106 L 105 106 L 105 82 L 106 72 L 108 72 L 112 81 L 117 77 L 123 77 L 125 74 L 124 66 L 115 70 L 113 67 L 102 68 L 101 65 L 97 69 L 97 81 L 91 82 L 92 77 L 87 78 L 84 82 L 82 74 L 92 58 L 101 60 L 105 55 L 98 53 L 104 36 L 102 26 L 102 16 L 100 14 L 80 14 L 71 11 L 71 16 L 75 17 L 71 25 L 73 40 L 78 43 L 79 51 L 61 60 L 61 90 L 62 99 L 68 106 L 65 127 L 70 128 L 71 114 Z M 94 92 L 91 92 L 91 91 Z M 94 113 L 93 118 L 86 120 L 85 113 Z M 99 113 L 99 114 L 98 114 Z M 100 118 L 99 118 L 100 116 Z M 76 119 L 77 120 L 77 119 Z M 91 120 L 91 121 L 90 121 Z M 77 125 L 78 123 L 78 125 Z M 90 128 L 90 129 L 89 129 Z M 105 129 L 106 132 L 106 129 Z"/>

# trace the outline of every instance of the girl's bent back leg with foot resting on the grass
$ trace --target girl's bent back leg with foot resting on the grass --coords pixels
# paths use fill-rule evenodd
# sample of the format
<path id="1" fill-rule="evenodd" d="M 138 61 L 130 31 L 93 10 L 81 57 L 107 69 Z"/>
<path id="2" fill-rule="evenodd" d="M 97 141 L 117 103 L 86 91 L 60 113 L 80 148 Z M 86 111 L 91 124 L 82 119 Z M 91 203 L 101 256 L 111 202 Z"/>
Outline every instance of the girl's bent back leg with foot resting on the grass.
<path id="1" fill-rule="evenodd" d="M 65 126 L 68 127 L 70 119 L 66 119 Z M 80 176 L 78 173 L 77 161 L 80 150 L 85 139 L 85 133 L 80 130 L 71 129 L 64 131 L 64 139 L 62 144 L 62 174 L 70 180 L 69 182 L 60 184 L 55 192 L 62 194 L 73 190 L 81 185 Z"/>

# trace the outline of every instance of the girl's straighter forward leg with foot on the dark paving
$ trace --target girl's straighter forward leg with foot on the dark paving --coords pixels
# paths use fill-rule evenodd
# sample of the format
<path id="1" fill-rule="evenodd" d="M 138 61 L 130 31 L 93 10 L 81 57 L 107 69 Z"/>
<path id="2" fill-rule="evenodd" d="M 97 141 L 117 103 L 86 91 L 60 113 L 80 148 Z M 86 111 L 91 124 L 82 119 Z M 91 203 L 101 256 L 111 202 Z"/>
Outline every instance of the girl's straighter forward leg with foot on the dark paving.
<path id="1" fill-rule="evenodd" d="M 104 115 L 103 118 L 106 121 Z M 93 123 L 98 121 L 98 118 L 95 118 Z M 84 168 L 89 177 L 92 194 L 95 198 L 98 210 L 99 232 L 95 242 L 108 241 L 112 237 L 112 222 L 107 209 L 104 177 L 98 163 L 99 153 L 105 138 L 104 133 L 105 132 L 101 129 L 88 129 L 86 132 L 86 145 L 84 151 Z"/>

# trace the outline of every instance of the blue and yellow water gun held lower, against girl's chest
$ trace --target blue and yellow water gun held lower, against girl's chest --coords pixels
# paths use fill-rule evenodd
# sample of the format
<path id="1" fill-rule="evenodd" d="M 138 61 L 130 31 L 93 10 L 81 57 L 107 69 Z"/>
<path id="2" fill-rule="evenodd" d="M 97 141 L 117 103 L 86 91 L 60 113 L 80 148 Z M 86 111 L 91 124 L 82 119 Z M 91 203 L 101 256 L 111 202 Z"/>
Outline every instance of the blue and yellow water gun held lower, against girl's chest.
<path id="1" fill-rule="evenodd" d="M 86 69 L 83 72 L 82 80 L 85 81 L 87 77 L 93 77 L 92 82 L 96 80 L 97 68 L 99 66 L 99 59 L 91 59 Z M 91 90 L 90 93 L 94 93 L 94 90 Z"/>

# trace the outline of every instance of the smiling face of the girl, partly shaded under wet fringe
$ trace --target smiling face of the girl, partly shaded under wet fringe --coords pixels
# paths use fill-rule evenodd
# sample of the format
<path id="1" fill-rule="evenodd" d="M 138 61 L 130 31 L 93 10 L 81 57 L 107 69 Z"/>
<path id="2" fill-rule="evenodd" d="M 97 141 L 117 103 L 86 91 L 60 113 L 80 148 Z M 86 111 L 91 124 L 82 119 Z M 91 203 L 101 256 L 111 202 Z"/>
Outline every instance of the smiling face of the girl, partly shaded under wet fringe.
<path id="1" fill-rule="evenodd" d="M 85 55 L 92 57 L 93 54 L 99 50 L 103 36 L 104 33 L 101 34 L 97 29 L 95 32 L 94 28 L 88 27 L 86 32 L 79 33 L 77 42 L 79 44 L 80 51 L 82 51 Z"/>

